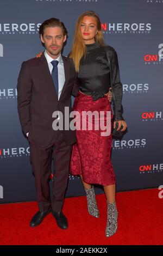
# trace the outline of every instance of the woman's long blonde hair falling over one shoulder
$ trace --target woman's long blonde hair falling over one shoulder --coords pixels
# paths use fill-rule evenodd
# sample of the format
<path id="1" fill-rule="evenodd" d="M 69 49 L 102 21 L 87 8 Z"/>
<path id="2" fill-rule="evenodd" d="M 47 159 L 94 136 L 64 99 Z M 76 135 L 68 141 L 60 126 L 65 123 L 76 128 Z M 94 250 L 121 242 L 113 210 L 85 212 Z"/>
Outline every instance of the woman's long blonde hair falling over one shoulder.
<path id="1" fill-rule="evenodd" d="M 86 46 L 84 44 L 82 32 L 80 31 L 80 27 L 81 27 L 84 16 L 95 18 L 97 22 L 97 34 L 95 35 L 95 41 L 98 42 L 99 45 L 102 45 L 102 46 L 105 45 L 105 42 L 103 39 L 101 21 L 99 19 L 99 16 L 94 11 L 85 11 L 85 13 L 81 14 L 78 17 L 78 20 L 76 23 L 76 29 L 74 33 L 72 50 L 70 52 L 70 58 L 73 60 L 77 72 L 79 71 L 80 59 L 83 56 L 85 56 L 85 53 L 86 53 Z"/>

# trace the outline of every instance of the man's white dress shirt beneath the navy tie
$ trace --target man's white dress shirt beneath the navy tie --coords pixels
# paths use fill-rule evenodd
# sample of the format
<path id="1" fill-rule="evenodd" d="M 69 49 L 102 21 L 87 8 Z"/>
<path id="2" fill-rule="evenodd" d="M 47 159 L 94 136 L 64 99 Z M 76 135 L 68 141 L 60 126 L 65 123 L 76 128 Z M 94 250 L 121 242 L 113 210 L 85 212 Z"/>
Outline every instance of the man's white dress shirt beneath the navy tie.
<path id="1" fill-rule="evenodd" d="M 49 67 L 49 71 L 52 75 L 52 70 L 53 70 L 53 65 L 52 65 L 52 61 L 54 60 L 51 56 L 48 55 L 47 51 L 45 50 L 44 52 L 45 58 L 47 60 L 48 63 L 48 67 Z M 62 88 L 64 87 L 64 83 L 65 83 L 65 70 L 64 70 L 64 62 L 62 60 L 61 54 L 60 56 L 55 59 L 58 60 L 58 100 L 60 98 L 61 92 L 62 92 Z M 58 113 L 59 114 L 59 113 Z M 59 119 L 59 118 L 58 118 Z M 28 133 L 26 133 L 27 137 L 28 137 Z"/>

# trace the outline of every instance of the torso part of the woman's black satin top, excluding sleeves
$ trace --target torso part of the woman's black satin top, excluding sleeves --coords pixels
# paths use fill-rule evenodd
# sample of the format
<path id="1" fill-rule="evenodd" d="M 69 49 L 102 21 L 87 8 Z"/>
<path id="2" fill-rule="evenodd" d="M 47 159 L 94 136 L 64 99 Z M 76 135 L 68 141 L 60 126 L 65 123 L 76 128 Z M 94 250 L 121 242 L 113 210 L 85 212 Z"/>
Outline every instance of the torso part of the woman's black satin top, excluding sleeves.
<path id="1" fill-rule="evenodd" d="M 104 47 L 97 42 L 86 45 L 86 56 L 80 60 L 78 73 L 80 92 L 97 98 L 109 92 L 110 70 Z M 95 96 L 96 94 L 96 96 Z"/>

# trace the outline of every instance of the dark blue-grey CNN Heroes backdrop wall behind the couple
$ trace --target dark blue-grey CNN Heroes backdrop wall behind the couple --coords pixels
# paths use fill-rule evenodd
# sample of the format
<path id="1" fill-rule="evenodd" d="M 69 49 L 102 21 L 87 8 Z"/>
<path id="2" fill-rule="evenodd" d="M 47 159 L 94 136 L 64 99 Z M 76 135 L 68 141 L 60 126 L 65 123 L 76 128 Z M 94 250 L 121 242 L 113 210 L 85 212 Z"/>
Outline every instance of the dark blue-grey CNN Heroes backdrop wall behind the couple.
<path id="1" fill-rule="evenodd" d="M 40 24 L 58 17 L 68 30 L 63 54 L 72 46 L 77 17 L 86 10 L 101 17 L 104 38 L 118 54 L 128 132 L 112 142 L 117 191 L 159 187 L 162 163 L 162 1 L 1 0 L 0 2 L 0 203 L 35 200 L 29 145 L 17 114 L 17 77 L 24 60 L 44 48 Z M 96 188 L 97 193 L 103 190 Z M 70 175 L 66 196 L 84 194 Z"/>

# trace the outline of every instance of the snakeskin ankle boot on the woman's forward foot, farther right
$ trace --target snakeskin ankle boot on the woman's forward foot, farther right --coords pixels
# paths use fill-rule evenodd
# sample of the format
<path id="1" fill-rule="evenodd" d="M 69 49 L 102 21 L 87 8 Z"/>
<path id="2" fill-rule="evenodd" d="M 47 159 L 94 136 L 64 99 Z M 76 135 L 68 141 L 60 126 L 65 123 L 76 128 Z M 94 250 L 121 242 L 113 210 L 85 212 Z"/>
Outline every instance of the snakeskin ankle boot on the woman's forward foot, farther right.
<path id="1" fill-rule="evenodd" d="M 105 234 L 107 237 L 112 236 L 117 231 L 117 218 L 118 218 L 118 211 L 116 207 L 116 202 L 113 204 L 108 203 L 108 218 L 107 218 L 107 225 Z"/>

